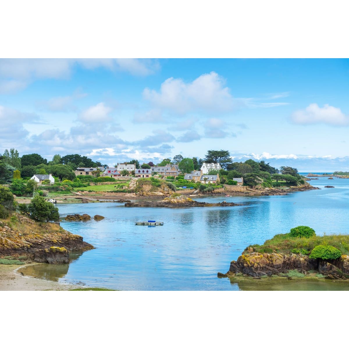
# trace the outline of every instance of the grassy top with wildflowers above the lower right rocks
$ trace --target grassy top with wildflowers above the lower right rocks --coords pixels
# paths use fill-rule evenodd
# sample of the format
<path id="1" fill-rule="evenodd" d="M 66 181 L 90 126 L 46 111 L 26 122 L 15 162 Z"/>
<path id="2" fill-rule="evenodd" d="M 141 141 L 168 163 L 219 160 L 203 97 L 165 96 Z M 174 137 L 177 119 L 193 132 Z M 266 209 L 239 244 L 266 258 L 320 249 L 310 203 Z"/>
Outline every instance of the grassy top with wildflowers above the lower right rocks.
<path id="1" fill-rule="evenodd" d="M 317 245 L 330 245 L 338 248 L 342 254 L 349 254 L 349 235 L 314 235 L 310 238 L 291 237 L 290 233 L 277 234 L 266 240 L 263 245 L 250 245 L 254 252 L 259 253 L 292 253 L 292 250 L 311 251 Z M 247 252 L 247 248 L 245 250 Z"/>

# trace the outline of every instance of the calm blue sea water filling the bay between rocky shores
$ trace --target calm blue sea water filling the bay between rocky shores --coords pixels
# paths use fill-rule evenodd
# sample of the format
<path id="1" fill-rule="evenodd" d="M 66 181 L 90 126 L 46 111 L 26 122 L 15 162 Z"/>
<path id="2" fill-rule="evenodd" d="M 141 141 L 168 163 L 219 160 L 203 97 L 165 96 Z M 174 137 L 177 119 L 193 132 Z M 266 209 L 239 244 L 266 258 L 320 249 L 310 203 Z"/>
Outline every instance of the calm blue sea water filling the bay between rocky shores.
<path id="1" fill-rule="evenodd" d="M 285 196 L 211 196 L 198 201 L 242 203 L 215 208 L 126 208 L 120 203 L 58 205 L 61 216 L 103 215 L 96 222 L 61 222 L 96 249 L 75 254 L 69 265 L 41 264 L 24 274 L 120 290 L 349 290 L 332 281 L 231 283 L 218 279 L 250 244 L 262 244 L 277 233 L 308 225 L 318 235 L 349 234 L 349 179 L 311 180 L 321 190 Z M 324 188 L 332 185 L 335 188 Z M 195 199 L 196 200 L 196 199 Z M 163 226 L 136 226 L 157 220 Z"/>

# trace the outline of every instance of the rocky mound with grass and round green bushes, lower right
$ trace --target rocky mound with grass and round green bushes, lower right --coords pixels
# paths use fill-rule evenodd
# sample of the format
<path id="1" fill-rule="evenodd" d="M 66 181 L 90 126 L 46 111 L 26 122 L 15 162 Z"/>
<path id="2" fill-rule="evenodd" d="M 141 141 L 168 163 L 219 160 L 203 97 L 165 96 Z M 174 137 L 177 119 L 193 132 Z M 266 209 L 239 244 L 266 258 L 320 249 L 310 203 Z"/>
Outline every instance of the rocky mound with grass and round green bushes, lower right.
<path id="1" fill-rule="evenodd" d="M 316 276 L 330 280 L 349 280 L 349 235 L 315 235 L 310 227 L 292 228 L 275 235 L 263 245 L 250 245 L 229 271 L 218 277 L 238 280 L 240 276 L 263 277 Z"/>

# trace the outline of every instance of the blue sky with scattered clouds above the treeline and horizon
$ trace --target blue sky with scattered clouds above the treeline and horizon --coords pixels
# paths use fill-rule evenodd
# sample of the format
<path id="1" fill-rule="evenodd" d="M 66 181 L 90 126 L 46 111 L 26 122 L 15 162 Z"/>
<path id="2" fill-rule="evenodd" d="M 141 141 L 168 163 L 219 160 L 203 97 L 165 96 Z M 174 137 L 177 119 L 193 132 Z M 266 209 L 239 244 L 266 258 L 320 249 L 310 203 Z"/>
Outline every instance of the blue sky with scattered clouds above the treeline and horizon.
<path id="1" fill-rule="evenodd" d="M 229 150 L 349 170 L 348 59 L 1 59 L 0 153 L 109 165 Z"/>

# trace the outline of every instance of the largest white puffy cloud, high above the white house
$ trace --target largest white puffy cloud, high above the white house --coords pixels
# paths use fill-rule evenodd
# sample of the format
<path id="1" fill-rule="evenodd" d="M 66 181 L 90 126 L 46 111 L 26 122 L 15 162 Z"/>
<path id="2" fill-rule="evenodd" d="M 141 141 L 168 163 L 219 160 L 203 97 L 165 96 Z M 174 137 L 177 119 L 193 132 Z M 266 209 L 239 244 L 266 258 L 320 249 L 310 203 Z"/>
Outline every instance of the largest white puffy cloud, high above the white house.
<path id="1" fill-rule="evenodd" d="M 222 76 L 215 72 L 203 74 L 192 82 L 170 77 L 160 87 L 160 91 L 143 90 L 143 97 L 158 108 L 178 113 L 189 111 L 230 111 L 235 100 Z"/>

